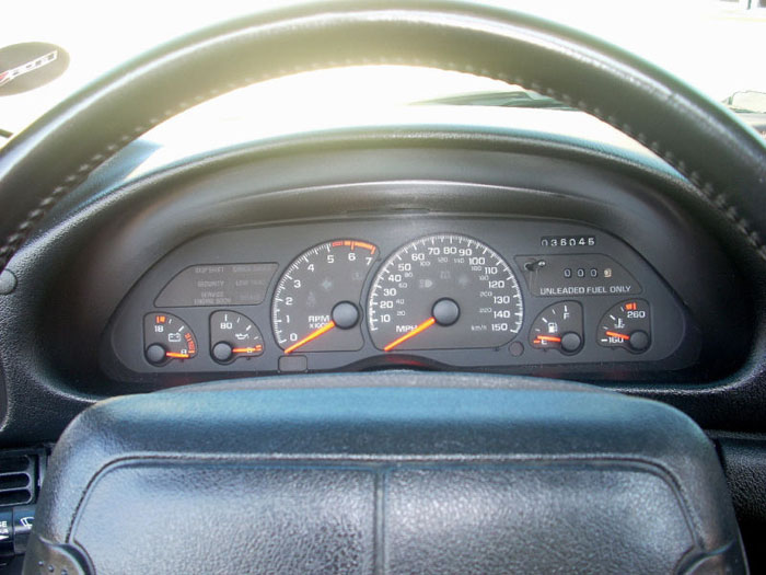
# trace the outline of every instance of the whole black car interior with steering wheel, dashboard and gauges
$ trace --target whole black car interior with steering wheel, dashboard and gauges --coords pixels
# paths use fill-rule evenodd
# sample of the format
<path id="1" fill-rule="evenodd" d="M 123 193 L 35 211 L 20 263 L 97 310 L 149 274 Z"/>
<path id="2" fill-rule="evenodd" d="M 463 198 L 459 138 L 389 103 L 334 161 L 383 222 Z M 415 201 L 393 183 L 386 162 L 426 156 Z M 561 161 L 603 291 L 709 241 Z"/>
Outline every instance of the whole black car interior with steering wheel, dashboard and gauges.
<path id="1" fill-rule="evenodd" d="M 423 103 L 146 165 L 186 110 L 373 65 L 631 143 Z M 762 572 L 765 200 L 752 126 L 519 12 L 307 3 L 141 54 L 0 148 L 0 573 Z"/>

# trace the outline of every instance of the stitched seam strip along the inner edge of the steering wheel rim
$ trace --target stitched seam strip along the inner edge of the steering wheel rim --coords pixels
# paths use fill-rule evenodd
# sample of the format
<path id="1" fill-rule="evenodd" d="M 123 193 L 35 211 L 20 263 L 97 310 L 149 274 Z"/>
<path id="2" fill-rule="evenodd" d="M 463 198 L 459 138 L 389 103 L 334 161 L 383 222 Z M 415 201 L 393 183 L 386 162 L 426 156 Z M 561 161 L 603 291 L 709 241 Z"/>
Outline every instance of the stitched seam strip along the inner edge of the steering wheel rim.
<path id="1" fill-rule="evenodd" d="M 535 80 L 527 80 L 521 76 L 507 74 L 504 72 L 499 72 L 495 70 L 489 70 L 484 67 L 474 67 L 471 65 L 459 65 L 454 61 L 440 61 L 437 59 L 423 60 L 420 58 L 346 58 L 343 61 L 329 60 L 329 61 L 316 61 L 305 66 L 293 66 L 290 69 L 281 68 L 276 73 L 263 73 L 257 79 L 252 77 L 245 77 L 239 82 L 228 82 L 225 89 L 213 88 L 195 96 L 188 97 L 185 101 L 179 102 L 175 107 L 165 110 L 162 114 L 153 115 L 143 124 L 135 126 L 132 129 L 124 133 L 119 138 L 114 140 L 112 143 L 107 145 L 104 150 L 100 153 L 94 154 L 86 162 L 80 164 L 78 169 L 63 179 L 63 181 L 56 186 L 48 196 L 43 198 L 36 208 L 32 209 L 26 214 L 24 220 L 22 220 L 15 228 L 15 231 L 9 235 L 3 245 L 0 246 L 0 271 L 4 269 L 9 261 L 15 252 L 21 248 L 21 245 L 26 241 L 35 225 L 67 194 L 77 188 L 81 183 L 83 183 L 93 171 L 95 171 L 101 164 L 106 160 L 112 158 L 125 146 L 140 137 L 142 134 L 149 129 L 155 127 L 160 123 L 169 119 L 181 112 L 188 110 L 192 106 L 200 104 L 222 95 L 232 90 L 239 88 L 244 88 L 253 83 L 271 80 L 276 78 L 281 78 L 285 76 L 290 76 L 294 73 L 301 73 L 312 70 L 324 69 L 327 67 L 338 67 L 338 66 L 360 66 L 360 65 L 410 65 L 410 66 L 426 66 L 443 70 L 459 71 L 464 73 L 469 73 L 478 77 L 486 77 L 495 80 L 500 80 L 503 82 L 526 85 L 530 89 L 545 93 L 556 100 L 564 102 L 567 105 L 577 107 L 588 114 L 595 116 L 596 118 L 612 125 L 616 129 L 623 131 L 627 136 L 634 138 L 636 141 L 646 146 L 654 153 L 660 156 L 665 162 L 676 169 L 685 177 L 687 177 L 695 187 L 701 193 L 703 197 L 708 200 L 710 207 L 719 211 L 727 220 L 729 220 L 734 228 L 744 237 L 747 245 L 759 256 L 763 261 L 766 261 L 766 244 L 761 240 L 761 233 L 758 230 L 751 229 L 750 222 L 740 216 L 739 209 L 733 200 L 730 199 L 731 194 L 727 192 L 720 192 L 716 186 L 708 182 L 698 170 L 689 166 L 685 161 L 677 159 L 675 154 L 663 146 L 659 140 L 649 138 L 646 134 L 641 131 L 636 131 L 629 124 L 619 120 L 613 114 L 608 114 L 597 106 L 592 106 L 582 99 L 576 99 L 571 95 L 557 91 L 555 89 L 548 88 Z"/>

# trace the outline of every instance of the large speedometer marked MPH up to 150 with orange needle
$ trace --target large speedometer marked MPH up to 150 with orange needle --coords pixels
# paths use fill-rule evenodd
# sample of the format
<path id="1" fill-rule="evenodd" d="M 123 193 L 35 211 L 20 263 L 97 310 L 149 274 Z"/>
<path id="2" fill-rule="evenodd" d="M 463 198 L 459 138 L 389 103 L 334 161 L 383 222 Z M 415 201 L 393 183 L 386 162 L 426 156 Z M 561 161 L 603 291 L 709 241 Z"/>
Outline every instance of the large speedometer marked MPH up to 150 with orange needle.
<path id="1" fill-rule="evenodd" d="M 457 234 L 397 250 L 368 301 L 372 341 L 384 352 L 500 347 L 521 330 L 519 281 L 491 248 Z"/>

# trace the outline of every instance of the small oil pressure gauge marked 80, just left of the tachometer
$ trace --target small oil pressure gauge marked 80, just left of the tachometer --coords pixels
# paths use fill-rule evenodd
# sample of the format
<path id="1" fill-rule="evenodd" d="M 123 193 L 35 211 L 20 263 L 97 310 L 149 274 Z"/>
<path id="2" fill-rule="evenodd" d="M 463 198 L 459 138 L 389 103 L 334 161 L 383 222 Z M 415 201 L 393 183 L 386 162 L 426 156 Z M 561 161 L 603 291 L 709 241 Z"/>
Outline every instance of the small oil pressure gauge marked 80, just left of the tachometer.
<path id="1" fill-rule="evenodd" d="M 219 364 L 264 353 L 260 330 L 249 318 L 235 311 L 217 311 L 210 315 L 210 355 Z"/>

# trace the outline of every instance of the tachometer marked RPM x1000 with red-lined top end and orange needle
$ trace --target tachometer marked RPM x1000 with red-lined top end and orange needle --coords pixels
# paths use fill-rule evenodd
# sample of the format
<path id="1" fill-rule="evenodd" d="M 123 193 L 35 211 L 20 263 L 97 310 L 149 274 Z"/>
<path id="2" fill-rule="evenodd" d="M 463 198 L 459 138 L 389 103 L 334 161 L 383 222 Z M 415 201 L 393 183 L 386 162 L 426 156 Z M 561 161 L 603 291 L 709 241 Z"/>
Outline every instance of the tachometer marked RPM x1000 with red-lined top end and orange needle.
<path id="1" fill-rule="evenodd" d="M 334 240 L 290 264 L 271 306 L 274 336 L 286 354 L 361 348 L 362 286 L 376 257 L 369 242 Z"/>

